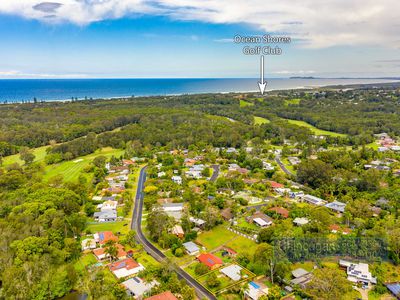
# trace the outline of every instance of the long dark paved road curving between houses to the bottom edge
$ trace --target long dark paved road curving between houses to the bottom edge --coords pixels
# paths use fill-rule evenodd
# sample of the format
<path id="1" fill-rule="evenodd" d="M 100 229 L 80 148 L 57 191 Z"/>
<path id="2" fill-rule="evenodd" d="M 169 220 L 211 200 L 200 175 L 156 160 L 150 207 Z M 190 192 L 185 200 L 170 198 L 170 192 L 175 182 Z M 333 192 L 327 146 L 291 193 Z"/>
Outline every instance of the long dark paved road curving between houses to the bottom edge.
<path id="1" fill-rule="evenodd" d="M 143 210 L 143 188 L 146 181 L 146 168 L 140 170 L 138 187 L 136 191 L 135 207 L 133 208 L 132 224 L 131 228 L 136 231 L 136 240 L 138 243 L 143 245 L 143 248 L 148 254 L 154 257 L 159 262 L 167 261 L 166 256 L 160 250 L 158 250 L 152 243 L 150 243 L 142 232 L 142 210 Z M 207 291 L 200 283 L 194 280 L 188 273 L 181 268 L 177 267 L 174 271 L 178 274 L 179 278 L 184 279 L 186 283 L 193 287 L 196 291 L 197 296 L 200 299 L 211 299 L 215 300 L 216 297 Z"/>

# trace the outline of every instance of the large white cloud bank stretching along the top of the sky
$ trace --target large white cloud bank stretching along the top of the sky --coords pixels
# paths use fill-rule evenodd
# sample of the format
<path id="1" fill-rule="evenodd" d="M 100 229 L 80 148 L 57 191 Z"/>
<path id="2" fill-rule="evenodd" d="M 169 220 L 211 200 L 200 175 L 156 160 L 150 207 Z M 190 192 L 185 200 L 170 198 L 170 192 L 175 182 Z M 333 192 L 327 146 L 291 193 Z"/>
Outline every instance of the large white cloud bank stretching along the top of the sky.
<path id="1" fill-rule="evenodd" d="M 43 4 L 44 3 L 44 4 Z M 58 5 L 62 4 L 62 5 Z M 1 0 L 0 12 L 46 22 L 91 22 L 153 14 L 179 20 L 248 23 L 302 39 L 307 47 L 398 47 L 398 0 Z"/>

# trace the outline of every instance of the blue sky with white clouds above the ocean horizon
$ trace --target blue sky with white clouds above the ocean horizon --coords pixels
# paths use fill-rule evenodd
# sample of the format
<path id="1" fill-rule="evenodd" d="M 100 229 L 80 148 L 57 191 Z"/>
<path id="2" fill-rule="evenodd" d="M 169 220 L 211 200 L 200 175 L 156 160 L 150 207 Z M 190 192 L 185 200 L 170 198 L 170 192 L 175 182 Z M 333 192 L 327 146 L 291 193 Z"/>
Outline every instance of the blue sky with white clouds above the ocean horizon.
<path id="1" fill-rule="evenodd" d="M 400 76 L 398 0 L 0 0 L 0 78 Z"/>

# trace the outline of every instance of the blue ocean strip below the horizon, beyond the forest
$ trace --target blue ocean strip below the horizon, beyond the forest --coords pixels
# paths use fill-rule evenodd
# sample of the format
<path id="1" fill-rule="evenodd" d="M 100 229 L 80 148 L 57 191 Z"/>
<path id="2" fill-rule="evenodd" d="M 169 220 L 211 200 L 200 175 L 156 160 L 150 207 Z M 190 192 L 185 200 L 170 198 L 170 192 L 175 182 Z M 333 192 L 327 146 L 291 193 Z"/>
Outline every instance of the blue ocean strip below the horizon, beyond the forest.
<path id="1" fill-rule="evenodd" d="M 392 80 L 393 81 L 393 80 Z M 382 79 L 268 79 L 267 90 L 384 83 Z M 3 79 L 0 102 L 257 91 L 257 79 Z"/>

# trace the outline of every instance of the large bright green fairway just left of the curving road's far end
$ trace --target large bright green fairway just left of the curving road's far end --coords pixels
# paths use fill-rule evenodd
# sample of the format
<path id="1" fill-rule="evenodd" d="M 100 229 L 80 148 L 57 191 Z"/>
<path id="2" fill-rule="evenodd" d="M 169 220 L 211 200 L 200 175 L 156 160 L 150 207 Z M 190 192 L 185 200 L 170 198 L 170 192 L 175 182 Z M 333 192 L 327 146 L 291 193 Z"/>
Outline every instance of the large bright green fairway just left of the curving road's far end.
<path id="1" fill-rule="evenodd" d="M 87 167 L 97 156 L 103 155 L 107 158 L 110 158 L 114 155 L 119 157 L 123 153 L 124 150 L 107 147 L 97 150 L 93 154 L 78 157 L 72 161 L 65 161 L 59 164 L 49 165 L 45 168 L 44 179 L 46 180 L 56 175 L 62 175 L 64 177 L 64 181 L 76 181 L 83 169 Z"/>

